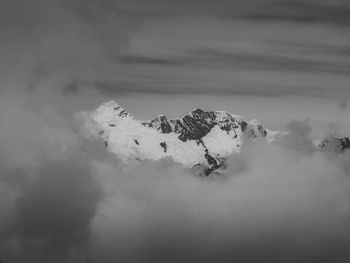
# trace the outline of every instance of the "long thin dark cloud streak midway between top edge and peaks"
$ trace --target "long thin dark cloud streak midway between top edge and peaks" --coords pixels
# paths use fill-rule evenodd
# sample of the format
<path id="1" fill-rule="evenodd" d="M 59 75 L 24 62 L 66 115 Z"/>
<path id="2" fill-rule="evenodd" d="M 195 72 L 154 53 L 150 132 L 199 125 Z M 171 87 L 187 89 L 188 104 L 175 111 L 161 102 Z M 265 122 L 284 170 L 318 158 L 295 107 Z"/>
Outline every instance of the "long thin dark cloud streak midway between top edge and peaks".
<path id="1" fill-rule="evenodd" d="M 292 72 L 332 72 L 348 74 L 348 65 L 331 64 L 317 59 L 292 58 L 262 54 L 225 53 L 218 50 L 194 50 L 184 57 L 157 58 L 125 56 L 119 60 L 123 64 L 159 66 L 196 66 L 204 68 L 263 69 L 268 71 Z"/>

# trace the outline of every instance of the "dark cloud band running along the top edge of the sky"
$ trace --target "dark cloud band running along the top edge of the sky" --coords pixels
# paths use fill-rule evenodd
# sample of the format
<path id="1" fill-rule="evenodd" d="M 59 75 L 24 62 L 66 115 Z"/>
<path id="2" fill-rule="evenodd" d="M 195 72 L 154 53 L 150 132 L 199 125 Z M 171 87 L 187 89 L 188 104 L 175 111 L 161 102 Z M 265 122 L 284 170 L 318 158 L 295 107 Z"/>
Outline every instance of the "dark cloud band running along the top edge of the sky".
<path id="1" fill-rule="evenodd" d="M 209 15 L 226 19 L 278 20 L 299 23 L 349 24 L 347 1 L 290 1 L 290 0 L 94 0 L 68 2 L 77 12 L 96 17 L 100 12 L 118 14 L 135 19 L 164 17 L 169 15 Z"/>

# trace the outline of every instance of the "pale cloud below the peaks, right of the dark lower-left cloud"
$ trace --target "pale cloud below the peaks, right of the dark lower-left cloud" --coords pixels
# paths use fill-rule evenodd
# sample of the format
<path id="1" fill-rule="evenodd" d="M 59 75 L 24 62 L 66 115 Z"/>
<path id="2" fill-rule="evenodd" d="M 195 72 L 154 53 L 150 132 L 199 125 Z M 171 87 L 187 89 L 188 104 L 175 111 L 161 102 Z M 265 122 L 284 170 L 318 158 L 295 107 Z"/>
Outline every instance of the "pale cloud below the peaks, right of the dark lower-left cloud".
<path id="1" fill-rule="evenodd" d="M 257 142 L 231 157 L 226 179 L 169 160 L 124 172 L 96 163 L 109 194 L 94 219 L 95 260 L 346 262 L 348 158 Z"/>

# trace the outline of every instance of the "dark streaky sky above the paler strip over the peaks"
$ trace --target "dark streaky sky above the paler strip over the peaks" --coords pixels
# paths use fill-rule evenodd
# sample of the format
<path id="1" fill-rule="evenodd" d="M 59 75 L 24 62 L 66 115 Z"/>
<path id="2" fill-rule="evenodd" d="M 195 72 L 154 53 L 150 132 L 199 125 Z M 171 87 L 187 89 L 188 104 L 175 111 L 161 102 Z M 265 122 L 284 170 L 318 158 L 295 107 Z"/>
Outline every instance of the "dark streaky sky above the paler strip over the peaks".
<path id="1" fill-rule="evenodd" d="M 110 94 L 349 96 L 345 0 L 17 0 L 0 12 L 5 58 L 21 54 L 34 79 L 59 68 L 79 72 L 67 85 Z"/>

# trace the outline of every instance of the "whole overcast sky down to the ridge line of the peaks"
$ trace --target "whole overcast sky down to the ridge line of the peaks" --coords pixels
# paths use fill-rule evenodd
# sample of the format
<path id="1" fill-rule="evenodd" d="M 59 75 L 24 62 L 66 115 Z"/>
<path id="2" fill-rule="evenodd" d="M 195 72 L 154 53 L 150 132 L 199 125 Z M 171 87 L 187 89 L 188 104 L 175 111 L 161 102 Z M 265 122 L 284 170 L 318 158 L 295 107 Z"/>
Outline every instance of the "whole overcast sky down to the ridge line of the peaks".
<path id="1" fill-rule="evenodd" d="M 349 13 L 345 0 L 4 0 L 2 90 L 69 117 L 115 99 L 138 118 L 200 106 L 345 136 Z"/>

